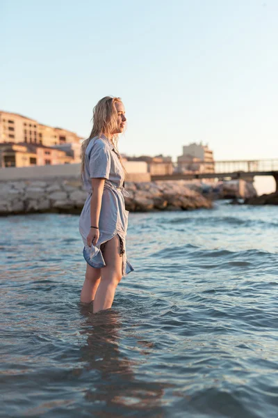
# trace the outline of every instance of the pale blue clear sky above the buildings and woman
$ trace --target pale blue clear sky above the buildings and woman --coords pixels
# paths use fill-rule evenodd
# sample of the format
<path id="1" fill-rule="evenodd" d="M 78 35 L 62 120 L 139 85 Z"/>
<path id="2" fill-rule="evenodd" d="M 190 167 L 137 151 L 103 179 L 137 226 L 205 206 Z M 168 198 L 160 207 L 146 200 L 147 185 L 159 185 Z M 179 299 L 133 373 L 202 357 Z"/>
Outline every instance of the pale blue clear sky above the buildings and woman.
<path id="1" fill-rule="evenodd" d="M 0 0 L 0 109 L 81 137 L 120 96 L 127 155 L 278 158 L 277 0 Z"/>

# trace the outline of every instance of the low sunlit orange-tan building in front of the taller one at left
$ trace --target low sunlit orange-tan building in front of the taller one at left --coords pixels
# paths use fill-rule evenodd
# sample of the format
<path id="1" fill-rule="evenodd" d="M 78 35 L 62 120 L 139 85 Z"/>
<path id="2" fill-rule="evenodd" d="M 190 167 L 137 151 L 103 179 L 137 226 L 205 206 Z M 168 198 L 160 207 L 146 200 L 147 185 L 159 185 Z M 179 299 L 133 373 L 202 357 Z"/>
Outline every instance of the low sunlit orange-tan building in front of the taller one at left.
<path id="1" fill-rule="evenodd" d="M 66 151 L 40 144 L 0 144 L 0 168 L 30 167 L 33 165 L 70 164 L 72 156 Z"/>

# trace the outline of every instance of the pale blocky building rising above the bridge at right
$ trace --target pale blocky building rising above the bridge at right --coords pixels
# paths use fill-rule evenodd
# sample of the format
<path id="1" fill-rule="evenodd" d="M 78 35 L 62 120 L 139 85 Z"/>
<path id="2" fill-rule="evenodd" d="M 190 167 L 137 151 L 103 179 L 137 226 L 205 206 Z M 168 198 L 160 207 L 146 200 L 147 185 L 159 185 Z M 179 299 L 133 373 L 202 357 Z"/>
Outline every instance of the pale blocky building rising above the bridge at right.
<path id="1" fill-rule="evenodd" d="M 177 162 L 179 173 L 214 173 L 213 151 L 202 142 L 183 146 L 183 155 L 179 155 Z"/>

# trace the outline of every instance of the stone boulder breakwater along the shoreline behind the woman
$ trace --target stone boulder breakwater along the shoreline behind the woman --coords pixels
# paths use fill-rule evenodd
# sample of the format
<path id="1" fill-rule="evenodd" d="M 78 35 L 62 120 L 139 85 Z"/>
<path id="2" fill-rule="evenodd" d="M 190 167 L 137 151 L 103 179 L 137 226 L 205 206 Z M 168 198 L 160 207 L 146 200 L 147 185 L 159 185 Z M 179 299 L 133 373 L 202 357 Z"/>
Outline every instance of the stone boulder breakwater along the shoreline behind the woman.
<path id="1" fill-rule="evenodd" d="M 126 210 L 190 210 L 211 208 L 210 199 L 190 190 L 183 180 L 135 182 L 126 181 Z M 44 180 L 9 180 L 0 183 L 0 215 L 34 212 L 79 214 L 88 193 L 81 180 L 47 178 Z"/>

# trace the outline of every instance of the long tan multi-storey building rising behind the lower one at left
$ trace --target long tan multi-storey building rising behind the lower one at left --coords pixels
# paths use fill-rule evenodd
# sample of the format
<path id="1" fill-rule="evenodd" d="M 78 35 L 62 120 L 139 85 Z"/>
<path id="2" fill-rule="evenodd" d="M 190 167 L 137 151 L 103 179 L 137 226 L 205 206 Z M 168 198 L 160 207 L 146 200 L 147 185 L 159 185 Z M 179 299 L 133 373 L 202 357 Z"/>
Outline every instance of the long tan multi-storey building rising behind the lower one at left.
<path id="1" fill-rule="evenodd" d="M 74 132 L 70 132 L 60 127 L 43 125 L 42 123 L 38 123 L 31 118 L 26 118 L 19 114 L 0 111 L 0 144 L 10 143 L 32 144 L 37 147 L 44 146 L 48 148 L 57 148 L 58 150 L 60 149 L 67 153 L 70 157 L 69 162 L 80 162 L 81 137 Z M 38 153 L 40 154 L 39 149 L 41 149 L 41 147 L 38 147 Z M 53 155 L 58 154 L 59 153 L 54 153 Z M 40 160 L 40 157 L 38 158 Z M 42 161 L 43 160 L 47 159 L 42 158 Z M 53 158 L 51 157 L 50 160 L 51 164 L 52 162 L 53 164 L 60 164 L 54 162 L 57 160 L 56 156 Z M 28 157 L 26 161 L 28 161 Z"/>

